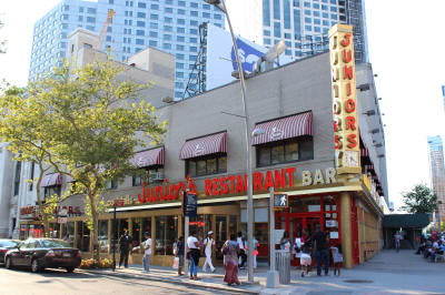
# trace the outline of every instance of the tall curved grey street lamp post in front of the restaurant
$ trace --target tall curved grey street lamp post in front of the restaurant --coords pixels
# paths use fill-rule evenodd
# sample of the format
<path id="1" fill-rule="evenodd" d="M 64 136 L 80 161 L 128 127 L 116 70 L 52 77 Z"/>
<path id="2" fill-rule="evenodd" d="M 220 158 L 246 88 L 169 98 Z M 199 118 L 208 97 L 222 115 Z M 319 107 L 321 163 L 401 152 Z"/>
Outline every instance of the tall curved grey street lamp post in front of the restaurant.
<path id="1" fill-rule="evenodd" d="M 248 241 L 248 252 L 247 252 L 247 266 L 248 266 L 248 282 L 254 283 L 254 202 L 253 202 L 253 183 L 251 183 L 251 134 L 249 132 L 249 112 L 247 108 L 246 100 L 246 81 L 245 73 L 243 71 L 243 64 L 238 54 L 238 45 L 236 43 L 234 30 L 231 28 L 231 22 L 229 14 L 227 12 L 226 3 L 224 0 L 204 0 L 206 3 L 215 6 L 227 18 L 227 24 L 229 26 L 231 41 L 234 42 L 234 50 L 236 62 L 238 65 L 239 72 L 239 82 L 241 85 L 241 99 L 243 99 L 243 108 L 244 108 L 244 122 L 245 122 L 245 140 L 246 140 L 246 153 L 247 153 L 247 241 Z"/>

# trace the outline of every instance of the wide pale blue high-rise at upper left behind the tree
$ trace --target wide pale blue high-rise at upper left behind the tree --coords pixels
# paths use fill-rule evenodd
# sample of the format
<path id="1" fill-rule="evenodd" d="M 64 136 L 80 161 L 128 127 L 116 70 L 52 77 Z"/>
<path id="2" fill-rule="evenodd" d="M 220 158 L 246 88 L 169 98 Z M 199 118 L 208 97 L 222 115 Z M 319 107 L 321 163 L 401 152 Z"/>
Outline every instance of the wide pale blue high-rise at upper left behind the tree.
<path id="1" fill-rule="evenodd" d="M 68 35 L 77 28 L 99 34 L 110 9 L 116 13 L 101 50 L 119 61 L 146 47 L 175 54 L 175 98 L 182 98 L 198 55 L 199 24 L 225 26 L 224 13 L 201 0 L 62 0 L 34 24 L 30 80 L 67 55 Z"/>

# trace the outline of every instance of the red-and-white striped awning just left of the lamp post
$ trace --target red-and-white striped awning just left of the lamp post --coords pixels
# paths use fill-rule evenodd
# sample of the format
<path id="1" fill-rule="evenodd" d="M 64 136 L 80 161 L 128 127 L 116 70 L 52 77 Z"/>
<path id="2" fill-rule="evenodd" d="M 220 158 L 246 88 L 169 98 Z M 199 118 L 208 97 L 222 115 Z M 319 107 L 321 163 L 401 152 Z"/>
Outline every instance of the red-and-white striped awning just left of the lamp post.
<path id="1" fill-rule="evenodd" d="M 180 160 L 226 152 L 227 132 L 186 141 L 179 154 Z"/>

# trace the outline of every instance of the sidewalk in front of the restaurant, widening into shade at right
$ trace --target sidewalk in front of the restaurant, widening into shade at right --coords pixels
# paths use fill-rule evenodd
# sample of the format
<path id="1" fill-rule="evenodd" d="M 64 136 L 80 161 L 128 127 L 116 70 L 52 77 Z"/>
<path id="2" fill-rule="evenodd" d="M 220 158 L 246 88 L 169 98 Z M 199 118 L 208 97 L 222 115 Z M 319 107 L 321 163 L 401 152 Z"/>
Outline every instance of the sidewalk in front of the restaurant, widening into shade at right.
<path id="1" fill-rule="evenodd" d="M 383 251 L 376 257 L 358 265 L 354 269 L 342 269 L 342 276 L 317 276 L 314 269 L 309 276 L 299 277 L 300 272 L 293 267 L 289 285 L 278 285 L 275 289 L 266 288 L 267 267 L 260 267 L 255 273 L 256 284 L 247 284 L 247 271 L 239 273 L 240 286 L 227 286 L 224 282 L 224 268 L 218 267 L 215 273 L 202 273 L 199 269 L 200 281 L 190 281 L 188 277 L 178 277 L 171 267 L 152 266 L 149 274 L 142 272 L 141 265 L 131 265 L 129 268 L 97 272 L 110 276 L 152 279 L 158 282 L 182 284 L 190 287 L 199 286 L 216 291 L 226 291 L 238 294 L 443 294 L 445 287 L 443 277 L 445 263 L 428 263 L 413 251 Z M 244 284 L 243 284 L 244 283 Z"/>

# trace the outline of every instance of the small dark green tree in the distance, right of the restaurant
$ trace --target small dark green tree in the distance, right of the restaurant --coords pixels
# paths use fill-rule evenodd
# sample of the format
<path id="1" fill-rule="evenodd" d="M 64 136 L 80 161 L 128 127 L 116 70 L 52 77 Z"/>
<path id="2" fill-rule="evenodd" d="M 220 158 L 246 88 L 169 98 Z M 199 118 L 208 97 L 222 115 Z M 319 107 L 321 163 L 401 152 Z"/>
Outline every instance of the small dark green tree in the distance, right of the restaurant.
<path id="1" fill-rule="evenodd" d="M 425 184 L 416 184 L 408 193 L 403 193 L 404 206 L 409 213 L 432 213 L 437 207 L 437 196 Z"/>

